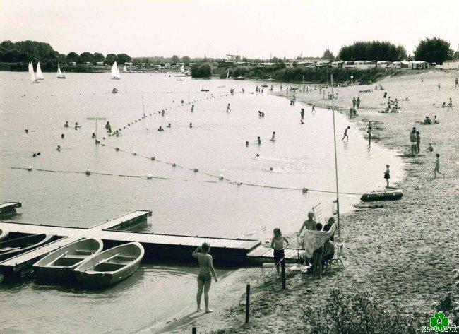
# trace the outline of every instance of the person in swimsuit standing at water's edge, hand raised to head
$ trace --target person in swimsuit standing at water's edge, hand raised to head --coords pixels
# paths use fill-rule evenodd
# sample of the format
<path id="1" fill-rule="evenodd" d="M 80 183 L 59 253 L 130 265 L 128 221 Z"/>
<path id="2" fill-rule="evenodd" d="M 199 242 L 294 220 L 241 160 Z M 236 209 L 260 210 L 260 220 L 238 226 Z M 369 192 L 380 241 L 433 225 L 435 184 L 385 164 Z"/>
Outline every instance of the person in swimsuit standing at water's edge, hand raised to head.
<path id="1" fill-rule="evenodd" d="M 197 258 L 199 262 L 199 274 L 198 274 L 198 294 L 196 294 L 196 303 L 198 308 L 196 312 L 201 311 L 201 297 L 204 290 L 204 302 L 205 302 L 205 313 L 212 312 L 209 309 L 209 290 L 210 284 L 212 283 L 212 276 L 215 282 L 218 282 L 217 274 L 212 264 L 212 256 L 208 254 L 210 251 L 210 245 L 204 242 L 202 246 L 198 246 L 193 251 L 193 258 Z"/>

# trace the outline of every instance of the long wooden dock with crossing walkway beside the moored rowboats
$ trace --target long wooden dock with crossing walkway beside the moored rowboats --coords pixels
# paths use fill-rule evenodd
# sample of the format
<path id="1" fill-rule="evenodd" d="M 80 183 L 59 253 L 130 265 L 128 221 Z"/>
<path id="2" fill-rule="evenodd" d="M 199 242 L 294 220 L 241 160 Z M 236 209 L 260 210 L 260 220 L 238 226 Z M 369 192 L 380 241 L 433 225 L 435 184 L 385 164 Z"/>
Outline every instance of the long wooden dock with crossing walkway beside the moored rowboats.
<path id="1" fill-rule="evenodd" d="M 20 234 L 53 234 L 55 241 L 47 245 L 20 254 L 0 262 L 0 273 L 15 275 L 27 270 L 33 263 L 40 260 L 59 247 L 82 238 L 97 238 L 104 242 L 104 249 L 126 242 L 138 241 L 145 248 L 145 261 L 192 261 L 191 253 L 196 246 L 208 242 L 215 263 L 238 263 L 254 265 L 273 262 L 273 250 L 261 245 L 254 239 L 231 239 L 219 237 L 198 237 L 174 234 L 155 234 L 145 232 L 121 231 L 151 216 L 151 211 L 136 210 L 126 215 L 107 220 L 89 228 L 61 227 L 54 225 L 34 225 L 20 222 L 0 221 L 0 229 L 8 229 L 10 233 Z M 287 262 L 297 261 L 298 252 L 302 250 L 286 250 Z"/>

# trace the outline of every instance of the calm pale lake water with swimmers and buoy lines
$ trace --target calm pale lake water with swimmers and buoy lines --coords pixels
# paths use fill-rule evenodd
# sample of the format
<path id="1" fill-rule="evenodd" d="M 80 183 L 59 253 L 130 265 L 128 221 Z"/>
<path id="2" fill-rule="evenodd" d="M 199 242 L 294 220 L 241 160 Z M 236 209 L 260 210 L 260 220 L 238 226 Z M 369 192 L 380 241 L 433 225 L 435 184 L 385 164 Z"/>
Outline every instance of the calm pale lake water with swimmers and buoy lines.
<path id="1" fill-rule="evenodd" d="M 13 220 L 28 223 L 90 227 L 145 209 L 152 210 L 153 217 L 144 229 L 157 233 L 264 240 L 274 227 L 285 234 L 297 231 L 317 203 L 330 215 L 333 193 L 247 184 L 334 191 L 332 114 L 325 109 L 312 114 L 310 107 L 298 103 L 292 107 L 288 100 L 268 95 L 268 88 L 265 94 L 255 94 L 256 85 L 260 83 L 144 73 L 126 73 L 121 80 L 110 80 L 109 73 L 68 73 L 66 80 L 45 73 L 45 80 L 35 85 L 27 73 L 0 72 L 0 201 L 23 202 Z M 110 93 L 114 87 L 119 94 Z M 237 94 L 229 95 L 230 88 Z M 242 88 L 244 94 L 239 93 Z M 301 107 L 306 109 L 303 125 Z M 157 113 L 165 108 L 165 116 Z M 259 118 L 258 110 L 266 116 Z M 144 112 L 148 117 L 141 119 Z M 105 121 L 99 121 L 97 134 L 105 146 L 96 146 L 91 138 L 95 122 L 88 117 L 105 117 L 122 135 L 108 137 Z M 70 128 L 64 128 L 65 121 Z M 73 129 L 75 122 L 82 128 Z M 171 128 L 166 128 L 169 123 Z M 395 152 L 375 143 L 369 147 L 353 125 L 349 141 L 341 141 L 348 125 L 345 117 L 336 115 L 340 191 L 381 189 L 386 164 L 391 165 L 391 181 L 398 181 L 402 162 Z M 158 132 L 159 126 L 165 131 Z M 273 131 L 275 142 L 270 141 Z M 255 143 L 257 136 L 261 145 Z M 40 157 L 32 157 L 37 152 Z M 160 161 L 148 159 L 152 156 Z M 172 167 L 172 162 L 178 166 Z M 79 173 L 11 169 L 28 166 Z M 189 170 L 194 168 L 199 172 Z M 111 175 L 88 177 L 86 169 Z M 146 179 L 148 174 L 165 179 Z M 359 196 L 340 196 L 341 212 L 352 210 L 357 201 Z M 135 331 L 192 305 L 195 273 L 195 266 L 145 265 L 104 292 L 35 282 L 0 287 L 1 326 Z M 132 309 L 142 311 L 133 317 Z"/>

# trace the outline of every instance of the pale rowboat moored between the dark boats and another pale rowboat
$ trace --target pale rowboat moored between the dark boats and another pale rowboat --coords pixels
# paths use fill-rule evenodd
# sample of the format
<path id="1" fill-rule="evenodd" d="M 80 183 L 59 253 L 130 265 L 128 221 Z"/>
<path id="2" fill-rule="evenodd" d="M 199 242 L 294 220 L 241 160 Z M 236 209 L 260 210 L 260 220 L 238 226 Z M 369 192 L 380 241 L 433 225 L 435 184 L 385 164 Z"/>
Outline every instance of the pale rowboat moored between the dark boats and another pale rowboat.
<path id="1" fill-rule="evenodd" d="M 99 254 L 103 247 L 100 239 L 81 239 L 44 256 L 33 265 L 33 270 L 37 278 L 65 280 L 71 278 L 73 269 Z"/>

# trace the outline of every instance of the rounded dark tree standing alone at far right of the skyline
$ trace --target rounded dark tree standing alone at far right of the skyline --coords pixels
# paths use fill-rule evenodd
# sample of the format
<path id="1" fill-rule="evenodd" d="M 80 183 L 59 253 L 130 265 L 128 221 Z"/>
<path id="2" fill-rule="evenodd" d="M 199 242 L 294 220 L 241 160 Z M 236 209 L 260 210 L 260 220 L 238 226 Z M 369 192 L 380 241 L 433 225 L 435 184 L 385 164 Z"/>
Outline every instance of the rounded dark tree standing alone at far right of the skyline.
<path id="1" fill-rule="evenodd" d="M 415 59 L 443 64 L 443 61 L 453 59 L 453 53 L 449 42 L 439 37 L 432 37 L 419 42 L 415 49 Z"/>

